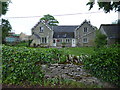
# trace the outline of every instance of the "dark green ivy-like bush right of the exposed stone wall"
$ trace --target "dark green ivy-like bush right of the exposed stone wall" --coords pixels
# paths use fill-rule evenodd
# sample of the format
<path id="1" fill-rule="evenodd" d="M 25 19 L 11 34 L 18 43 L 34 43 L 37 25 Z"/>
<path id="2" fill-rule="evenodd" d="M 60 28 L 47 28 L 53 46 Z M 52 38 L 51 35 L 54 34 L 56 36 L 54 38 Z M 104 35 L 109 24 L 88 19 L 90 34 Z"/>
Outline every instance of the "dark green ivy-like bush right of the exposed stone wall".
<path id="1" fill-rule="evenodd" d="M 84 58 L 85 69 L 105 81 L 120 86 L 120 49 L 117 47 L 99 48 L 91 56 Z"/>

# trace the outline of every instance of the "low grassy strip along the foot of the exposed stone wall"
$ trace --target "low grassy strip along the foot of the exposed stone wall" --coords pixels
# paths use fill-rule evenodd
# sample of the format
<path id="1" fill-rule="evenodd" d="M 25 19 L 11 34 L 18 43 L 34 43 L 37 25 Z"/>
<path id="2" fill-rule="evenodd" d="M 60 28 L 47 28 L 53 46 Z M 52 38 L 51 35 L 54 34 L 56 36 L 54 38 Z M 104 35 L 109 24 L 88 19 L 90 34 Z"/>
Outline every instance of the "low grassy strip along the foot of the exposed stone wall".
<path id="1" fill-rule="evenodd" d="M 52 88 L 102 88 L 99 85 L 86 85 L 81 82 L 69 80 L 69 79 L 60 79 L 60 78 L 52 78 L 44 80 L 44 87 L 52 87 Z"/>

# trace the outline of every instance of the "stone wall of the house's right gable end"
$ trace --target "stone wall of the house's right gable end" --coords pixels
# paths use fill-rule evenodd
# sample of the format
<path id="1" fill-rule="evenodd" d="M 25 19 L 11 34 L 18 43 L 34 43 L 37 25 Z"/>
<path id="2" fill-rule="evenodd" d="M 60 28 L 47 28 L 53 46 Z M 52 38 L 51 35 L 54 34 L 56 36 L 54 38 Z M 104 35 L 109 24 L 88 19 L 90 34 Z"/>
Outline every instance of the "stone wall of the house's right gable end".
<path id="1" fill-rule="evenodd" d="M 84 32 L 84 28 L 87 27 L 87 32 Z M 95 29 L 88 23 L 84 23 L 79 29 L 75 31 L 75 38 L 77 40 L 77 46 L 94 46 Z M 83 39 L 87 38 L 84 42 Z"/>

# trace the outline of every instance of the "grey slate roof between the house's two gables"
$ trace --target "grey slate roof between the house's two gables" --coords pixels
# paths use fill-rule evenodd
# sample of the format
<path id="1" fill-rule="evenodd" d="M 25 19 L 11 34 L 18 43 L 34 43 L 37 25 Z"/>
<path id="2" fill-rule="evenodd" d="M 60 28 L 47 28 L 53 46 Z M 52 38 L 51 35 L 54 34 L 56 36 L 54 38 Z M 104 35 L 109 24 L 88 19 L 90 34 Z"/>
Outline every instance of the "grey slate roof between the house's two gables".
<path id="1" fill-rule="evenodd" d="M 53 38 L 74 38 L 74 31 L 78 25 L 54 26 Z"/>

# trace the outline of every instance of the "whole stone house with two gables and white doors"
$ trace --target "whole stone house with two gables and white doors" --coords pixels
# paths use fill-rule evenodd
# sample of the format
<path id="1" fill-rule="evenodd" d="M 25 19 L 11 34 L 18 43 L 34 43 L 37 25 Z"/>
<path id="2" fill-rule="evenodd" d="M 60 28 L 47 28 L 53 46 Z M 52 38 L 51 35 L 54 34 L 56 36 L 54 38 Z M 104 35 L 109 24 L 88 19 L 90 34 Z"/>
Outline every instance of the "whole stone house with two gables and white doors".
<path id="1" fill-rule="evenodd" d="M 81 25 L 60 25 L 50 27 L 39 21 L 32 28 L 31 46 L 76 47 L 93 46 L 95 27 L 85 20 Z"/>

